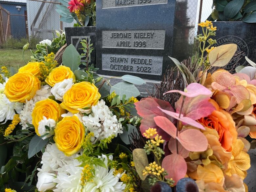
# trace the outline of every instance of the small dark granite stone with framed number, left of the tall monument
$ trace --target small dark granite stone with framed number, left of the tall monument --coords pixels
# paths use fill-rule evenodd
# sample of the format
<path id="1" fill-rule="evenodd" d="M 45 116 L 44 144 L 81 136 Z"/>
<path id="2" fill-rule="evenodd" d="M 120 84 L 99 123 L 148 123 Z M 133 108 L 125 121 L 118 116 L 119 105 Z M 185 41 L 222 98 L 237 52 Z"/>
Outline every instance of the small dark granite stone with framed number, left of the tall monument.
<path id="1" fill-rule="evenodd" d="M 83 53 L 81 50 L 81 40 L 86 39 L 87 42 L 93 44 L 94 50 L 91 53 L 89 60 L 90 64 L 96 64 L 96 27 L 65 27 L 67 45 L 73 44 L 79 54 Z"/>

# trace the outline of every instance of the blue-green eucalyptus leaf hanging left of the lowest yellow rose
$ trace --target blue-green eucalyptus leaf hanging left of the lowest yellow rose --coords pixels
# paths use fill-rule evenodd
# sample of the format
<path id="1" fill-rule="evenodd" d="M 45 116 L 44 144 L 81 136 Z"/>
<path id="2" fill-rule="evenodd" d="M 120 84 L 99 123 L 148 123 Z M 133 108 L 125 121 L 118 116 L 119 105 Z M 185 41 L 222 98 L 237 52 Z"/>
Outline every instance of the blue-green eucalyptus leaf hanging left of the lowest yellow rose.
<path id="1" fill-rule="evenodd" d="M 38 135 L 35 135 L 29 143 L 29 159 L 32 158 L 35 154 L 42 150 L 42 148 L 48 143 L 48 139 L 41 139 Z"/>

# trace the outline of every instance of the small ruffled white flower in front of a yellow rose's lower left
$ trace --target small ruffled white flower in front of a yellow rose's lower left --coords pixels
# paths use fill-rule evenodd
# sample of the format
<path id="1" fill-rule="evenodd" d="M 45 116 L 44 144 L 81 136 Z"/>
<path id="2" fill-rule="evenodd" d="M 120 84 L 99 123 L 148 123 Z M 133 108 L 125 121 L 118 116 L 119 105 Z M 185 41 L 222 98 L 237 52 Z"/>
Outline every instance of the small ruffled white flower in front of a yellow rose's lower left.
<path id="1" fill-rule="evenodd" d="M 47 130 L 45 126 L 50 127 L 50 130 Z M 48 133 L 48 135 L 42 137 L 42 139 L 51 137 L 54 133 L 53 129 L 55 126 L 56 126 L 56 121 L 54 119 L 51 119 L 51 118 L 47 119 L 45 116 L 43 116 L 43 119 L 38 123 L 38 133 L 40 134 L 40 136 Z"/>

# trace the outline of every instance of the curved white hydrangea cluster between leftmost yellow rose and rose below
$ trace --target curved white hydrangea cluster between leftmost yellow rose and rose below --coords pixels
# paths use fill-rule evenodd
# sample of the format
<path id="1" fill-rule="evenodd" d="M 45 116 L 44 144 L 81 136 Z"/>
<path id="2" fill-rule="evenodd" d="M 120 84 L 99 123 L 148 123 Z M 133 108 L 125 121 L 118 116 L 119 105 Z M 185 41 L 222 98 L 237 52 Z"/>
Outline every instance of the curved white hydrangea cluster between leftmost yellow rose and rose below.
<path id="1" fill-rule="evenodd" d="M 33 99 L 26 101 L 24 105 L 24 109 L 21 111 L 20 114 L 20 124 L 22 125 L 22 129 L 26 129 L 27 123 L 32 124 L 32 111 L 35 107 L 35 103 L 44 99 L 47 99 L 51 94 L 51 87 L 49 85 L 44 85 L 41 87 L 40 90 L 36 91 L 35 96 Z"/>

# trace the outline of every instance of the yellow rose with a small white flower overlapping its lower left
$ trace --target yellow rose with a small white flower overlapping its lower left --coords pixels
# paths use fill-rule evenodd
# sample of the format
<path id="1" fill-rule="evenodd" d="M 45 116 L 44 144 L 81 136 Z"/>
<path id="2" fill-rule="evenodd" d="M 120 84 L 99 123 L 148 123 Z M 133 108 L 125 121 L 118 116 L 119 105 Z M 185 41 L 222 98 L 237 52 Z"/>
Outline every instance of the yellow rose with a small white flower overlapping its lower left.
<path id="1" fill-rule="evenodd" d="M 60 105 L 53 101 L 52 99 L 45 99 L 42 101 L 38 101 L 35 103 L 35 107 L 32 111 L 32 124 L 35 127 L 35 132 L 38 136 L 38 124 L 43 119 L 43 117 L 51 118 L 55 121 L 59 121 L 62 119 L 61 115 L 65 113 Z"/>

